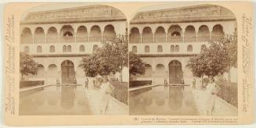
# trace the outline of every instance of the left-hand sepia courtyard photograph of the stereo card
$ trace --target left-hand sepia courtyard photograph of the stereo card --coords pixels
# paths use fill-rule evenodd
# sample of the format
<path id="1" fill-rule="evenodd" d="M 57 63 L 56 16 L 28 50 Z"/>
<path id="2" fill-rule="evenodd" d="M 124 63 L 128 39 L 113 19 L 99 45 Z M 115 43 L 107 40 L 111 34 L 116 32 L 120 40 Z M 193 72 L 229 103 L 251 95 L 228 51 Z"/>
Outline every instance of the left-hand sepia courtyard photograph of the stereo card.
<path id="1" fill-rule="evenodd" d="M 20 116 L 127 115 L 127 20 L 92 3 L 35 6 L 20 20 Z"/>

